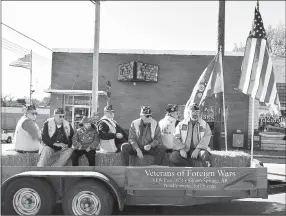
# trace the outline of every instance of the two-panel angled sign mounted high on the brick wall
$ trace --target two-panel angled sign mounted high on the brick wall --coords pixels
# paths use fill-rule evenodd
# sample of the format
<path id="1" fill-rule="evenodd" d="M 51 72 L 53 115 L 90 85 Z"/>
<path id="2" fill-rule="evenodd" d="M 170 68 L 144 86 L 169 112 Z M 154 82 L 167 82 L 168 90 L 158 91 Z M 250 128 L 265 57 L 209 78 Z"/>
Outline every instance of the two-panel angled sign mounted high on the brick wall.
<path id="1" fill-rule="evenodd" d="M 158 82 L 158 73 L 158 65 L 132 61 L 118 66 L 118 81 Z"/>

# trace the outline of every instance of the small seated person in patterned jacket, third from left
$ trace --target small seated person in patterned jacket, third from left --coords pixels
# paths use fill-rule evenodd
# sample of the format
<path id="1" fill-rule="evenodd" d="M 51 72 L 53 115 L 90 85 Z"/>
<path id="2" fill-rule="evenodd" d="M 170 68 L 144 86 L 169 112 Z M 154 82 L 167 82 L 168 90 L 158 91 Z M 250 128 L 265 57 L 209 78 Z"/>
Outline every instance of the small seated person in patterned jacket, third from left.
<path id="1" fill-rule="evenodd" d="M 89 166 L 95 166 L 96 147 L 99 145 L 98 132 L 92 119 L 84 116 L 81 120 L 82 127 L 77 129 L 72 139 L 73 154 L 72 165 L 78 166 L 78 160 L 82 155 L 88 159 Z"/>

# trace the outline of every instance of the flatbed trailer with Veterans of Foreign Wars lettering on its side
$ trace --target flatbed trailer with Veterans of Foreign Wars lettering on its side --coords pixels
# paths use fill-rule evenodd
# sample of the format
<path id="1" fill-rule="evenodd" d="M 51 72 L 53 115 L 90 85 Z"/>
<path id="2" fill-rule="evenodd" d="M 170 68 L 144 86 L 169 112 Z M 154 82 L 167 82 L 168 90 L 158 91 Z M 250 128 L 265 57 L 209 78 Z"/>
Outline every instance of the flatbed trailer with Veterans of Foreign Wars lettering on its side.
<path id="1" fill-rule="evenodd" d="M 265 167 L 2 167 L 2 214 L 110 215 L 127 205 L 192 206 L 268 198 Z"/>

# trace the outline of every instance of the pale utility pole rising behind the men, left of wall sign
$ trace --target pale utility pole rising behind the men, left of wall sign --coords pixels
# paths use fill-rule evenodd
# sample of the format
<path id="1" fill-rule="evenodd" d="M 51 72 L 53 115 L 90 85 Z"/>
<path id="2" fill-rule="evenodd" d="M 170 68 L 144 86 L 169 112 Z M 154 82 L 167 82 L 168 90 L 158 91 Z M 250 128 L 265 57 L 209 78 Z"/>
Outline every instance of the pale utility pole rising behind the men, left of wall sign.
<path id="1" fill-rule="evenodd" d="M 98 110 L 98 70 L 99 70 L 99 30 L 100 30 L 100 1 L 92 1 L 95 6 L 94 23 L 94 49 L 92 65 L 92 116 L 97 114 Z"/>

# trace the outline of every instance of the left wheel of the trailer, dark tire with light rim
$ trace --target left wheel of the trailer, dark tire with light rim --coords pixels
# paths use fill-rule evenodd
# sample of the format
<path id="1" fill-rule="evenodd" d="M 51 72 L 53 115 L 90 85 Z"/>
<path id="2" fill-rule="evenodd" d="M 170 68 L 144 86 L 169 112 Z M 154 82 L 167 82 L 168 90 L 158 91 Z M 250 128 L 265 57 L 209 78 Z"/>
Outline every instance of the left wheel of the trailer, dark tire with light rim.
<path id="1" fill-rule="evenodd" d="M 8 185 L 2 200 L 3 215 L 50 215 L 56 195 L 42 179 L 20 178 Z"/>

